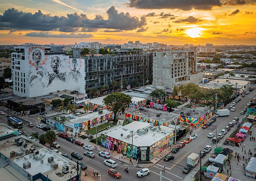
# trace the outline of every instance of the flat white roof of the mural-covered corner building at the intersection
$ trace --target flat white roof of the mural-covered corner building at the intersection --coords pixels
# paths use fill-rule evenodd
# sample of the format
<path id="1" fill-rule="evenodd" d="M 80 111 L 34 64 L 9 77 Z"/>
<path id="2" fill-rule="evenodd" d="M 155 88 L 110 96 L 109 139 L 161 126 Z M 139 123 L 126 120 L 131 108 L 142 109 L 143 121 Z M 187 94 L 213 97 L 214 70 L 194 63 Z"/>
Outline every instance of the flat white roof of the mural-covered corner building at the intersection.
<path id="1" fill-rule="evenodd" d="M 142 128 L 149 128 L 148 129 L 149 131 L 145 134 L 137 133 L 137 129 L 142 129 Z M 161 130 L 159 130 L 159 128 L 161 128 Z M 153 129 L 156 129 L 156 130 L 154 131 Z M 131 131 L 133 131 L 133 145 L 137 147 L 143 147 L 143 146 L 151 146 L 156 142 L 158 142 L 159 140 L 165 138 L 169 134 L 173 134 L 173 132 L 170 130 L 171 128 L 167 128 L 166 126 L 151 127 L 150 123 L 135 121 L 126 126 L 118 126 L 110 130 L 104 131 L 103 134 L 105 134 L 106 136 L 118 139 L 120 141 L 123 141 L 125 143 L 132 144 Z M 121 134 L 123 134 L 123 136 L 121 136 Z M 127 135 L 130 135 L 130 138 L 127 137 Z"/>

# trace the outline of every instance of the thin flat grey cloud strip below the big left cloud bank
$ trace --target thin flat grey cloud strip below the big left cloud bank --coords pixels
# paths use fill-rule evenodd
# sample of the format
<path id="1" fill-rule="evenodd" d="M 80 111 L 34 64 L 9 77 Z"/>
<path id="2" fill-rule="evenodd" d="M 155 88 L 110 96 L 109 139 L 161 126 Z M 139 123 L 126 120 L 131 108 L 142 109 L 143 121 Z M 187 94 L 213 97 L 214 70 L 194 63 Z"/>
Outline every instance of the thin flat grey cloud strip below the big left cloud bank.
<path id="1" fill-rule="evenodd" d="M 40 31 L 40 32 L 31 32 L 27 33 L 24 36 L 31 36 L 31 37 L 53 37 L 53 38 L 92 38 L 92 34 L 87 33 L 61 33 L 61 34 L 53 34 L 46 31 Z"/>

